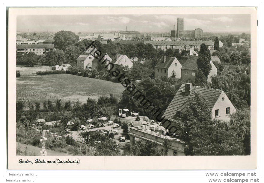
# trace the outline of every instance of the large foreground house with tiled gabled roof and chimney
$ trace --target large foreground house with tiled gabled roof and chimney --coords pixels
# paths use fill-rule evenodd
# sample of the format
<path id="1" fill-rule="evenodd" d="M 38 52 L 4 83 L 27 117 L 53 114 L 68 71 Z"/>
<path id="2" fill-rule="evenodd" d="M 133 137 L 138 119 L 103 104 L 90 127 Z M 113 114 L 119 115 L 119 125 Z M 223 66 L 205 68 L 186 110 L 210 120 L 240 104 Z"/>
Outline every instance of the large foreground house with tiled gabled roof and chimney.
<path id="1" fill-rule="evenodd" d="M 163 117 L 171 122 L 182 119 L 186 106 L 194 101 L 195 93 L 199 93 L 212 111 L 212 119 L 230 120 L 230 114 L 236 112 L 223 90 L 193 86 L 191 83 L 182 84 L 171 103 L 165 110 Z"/>

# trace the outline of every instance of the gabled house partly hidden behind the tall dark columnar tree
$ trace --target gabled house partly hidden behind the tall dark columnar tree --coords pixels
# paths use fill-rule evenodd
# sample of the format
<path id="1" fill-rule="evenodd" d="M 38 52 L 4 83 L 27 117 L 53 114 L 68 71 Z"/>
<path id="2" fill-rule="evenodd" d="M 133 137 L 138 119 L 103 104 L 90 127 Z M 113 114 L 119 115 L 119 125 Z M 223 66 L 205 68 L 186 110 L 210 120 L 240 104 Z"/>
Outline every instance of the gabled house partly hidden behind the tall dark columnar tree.
<path id="1" fill-rule="evenodd" d="M 190 55 L 189 58 L 185 61 L 181 68 L 181 79 L 185 82 L 193 82 L 195 80 L 195 72 L 197 70 L 197 58 L 198 56 Z M 212 70 L 210 71 L 207 82 L 212 82 L 212 76 L 216 76 L 217 68 L 214 63 L 210 61 L 212 65 Z"/>

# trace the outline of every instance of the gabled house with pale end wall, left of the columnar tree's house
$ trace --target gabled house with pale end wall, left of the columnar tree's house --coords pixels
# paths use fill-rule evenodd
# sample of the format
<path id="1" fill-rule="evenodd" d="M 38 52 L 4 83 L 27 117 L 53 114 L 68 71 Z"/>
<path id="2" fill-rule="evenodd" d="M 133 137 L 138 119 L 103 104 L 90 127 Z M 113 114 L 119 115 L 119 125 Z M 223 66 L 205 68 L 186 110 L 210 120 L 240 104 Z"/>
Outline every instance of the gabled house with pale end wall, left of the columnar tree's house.
<path id="1" fill-rule="evenodd" d="M 163 56 L 154 67 L 155 79 L 168 79 L 173 71 L 175 72 L 175 78 L 181 78 L 181 68 L 184 62 L 179 61 L 176 57 Z"/>

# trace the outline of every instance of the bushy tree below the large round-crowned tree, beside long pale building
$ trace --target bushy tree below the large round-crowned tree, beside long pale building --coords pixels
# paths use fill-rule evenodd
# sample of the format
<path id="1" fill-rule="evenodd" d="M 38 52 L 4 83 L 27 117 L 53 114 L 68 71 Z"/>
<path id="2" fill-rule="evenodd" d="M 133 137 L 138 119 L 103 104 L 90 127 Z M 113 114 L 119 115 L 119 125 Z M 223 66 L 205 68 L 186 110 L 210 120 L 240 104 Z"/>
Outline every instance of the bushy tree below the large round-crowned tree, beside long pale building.
<path id="1" fill-rule="evenodd" d="M 45 64 L 49 66 L 61 65 L 65 61 L 64 52 L 56 49 L 46 53 Z"/>

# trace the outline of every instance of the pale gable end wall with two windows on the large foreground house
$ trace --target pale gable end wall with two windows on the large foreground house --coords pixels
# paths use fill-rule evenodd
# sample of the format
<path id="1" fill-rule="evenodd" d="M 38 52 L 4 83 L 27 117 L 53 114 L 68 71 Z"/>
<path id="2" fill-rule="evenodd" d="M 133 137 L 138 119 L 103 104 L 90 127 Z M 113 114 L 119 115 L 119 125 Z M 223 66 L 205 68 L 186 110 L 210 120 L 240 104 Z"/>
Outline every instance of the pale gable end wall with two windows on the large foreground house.
<path id="1" fill-rule="evenodd" d="M 224 100 L 222 100 L 224 98 Z M 229 121 L 230 120 L 230 114 L 226 115 L 226 108 L 230 107 L 230 114 L 235 113 L 236 109 L 227 97 L 227 95 L 222 91 L 219 98 L 215 102 L 214 107 L 212 108 L 212 119 L 221 119 L 223 121 Z M 219 109 L 219 116 L 215 116 L 215 110 Z"/>

